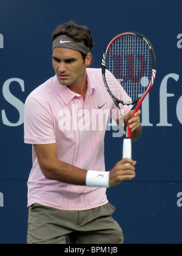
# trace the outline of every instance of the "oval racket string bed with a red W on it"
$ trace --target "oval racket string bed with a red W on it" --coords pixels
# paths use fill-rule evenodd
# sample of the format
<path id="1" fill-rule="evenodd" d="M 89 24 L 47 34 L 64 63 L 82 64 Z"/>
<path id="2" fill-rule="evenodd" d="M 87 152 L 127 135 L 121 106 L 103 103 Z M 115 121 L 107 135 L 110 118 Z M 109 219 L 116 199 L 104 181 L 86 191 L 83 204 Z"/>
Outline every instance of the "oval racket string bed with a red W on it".
<path id="1" fill-rule="evenodd" d="M 125 35 L 117 38 L 106 56 L 106 80 L 115 98 L 127 95 L 135 101 L 149 87 L 152 54 L 143 38 Z M 124 99 L 120 99 L 124 101 Z"/>

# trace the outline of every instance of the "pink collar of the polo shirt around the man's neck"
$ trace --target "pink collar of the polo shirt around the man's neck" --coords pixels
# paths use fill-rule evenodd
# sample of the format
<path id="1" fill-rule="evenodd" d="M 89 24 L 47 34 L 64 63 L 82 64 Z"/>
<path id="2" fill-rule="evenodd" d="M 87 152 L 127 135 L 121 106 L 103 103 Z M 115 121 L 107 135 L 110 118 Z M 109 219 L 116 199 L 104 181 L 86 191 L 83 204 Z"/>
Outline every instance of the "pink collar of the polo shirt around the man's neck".
<path id="1" fill-rule="evenodd" d="M 78 93 L 74 93 L 71 91 L 66 85 L 59 84 L 58 78 L 55 75 L 53 77 L 53 86 L 59 96 L 61 97 L 62 101 L 64 101 L 64 104 L 69 104 L 70 101 L 72 101 L 73 98 L 81 97 Z M 86 93 L 86 100 L 89 98 L 90 94 L 95 91 L 95 84 L 90 82 L 90 77 L 87 74 L 87 93 Z"/>

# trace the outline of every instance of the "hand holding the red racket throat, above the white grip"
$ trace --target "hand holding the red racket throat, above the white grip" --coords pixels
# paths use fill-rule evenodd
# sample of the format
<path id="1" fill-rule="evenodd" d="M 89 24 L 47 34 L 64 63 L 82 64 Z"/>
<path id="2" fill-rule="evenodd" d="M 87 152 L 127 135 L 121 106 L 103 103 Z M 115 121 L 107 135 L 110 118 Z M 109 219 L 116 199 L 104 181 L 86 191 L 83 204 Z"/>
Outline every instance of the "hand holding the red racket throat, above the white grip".
<path id="1" fill-rule="evenodd" d="M 124 120 L 126 122 L 126 126 L 130 127 L 131 131 L 132 131 L 132 141 L 136 141 L 140 138 L 141 136 L 141 131 L 142 131 L 142 126 L 141 126 L 141 123 L 140 123 L 140 115 L 141 115 L 141 110 L 138 110 L 134 117 L 132 118 L 132 115 L 133 115 L 133 110 L 130 111 L 129 113 L 127 113 L 125 116 L 124 116 Z"/>

